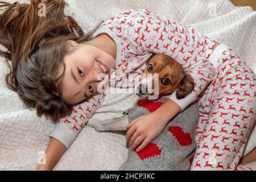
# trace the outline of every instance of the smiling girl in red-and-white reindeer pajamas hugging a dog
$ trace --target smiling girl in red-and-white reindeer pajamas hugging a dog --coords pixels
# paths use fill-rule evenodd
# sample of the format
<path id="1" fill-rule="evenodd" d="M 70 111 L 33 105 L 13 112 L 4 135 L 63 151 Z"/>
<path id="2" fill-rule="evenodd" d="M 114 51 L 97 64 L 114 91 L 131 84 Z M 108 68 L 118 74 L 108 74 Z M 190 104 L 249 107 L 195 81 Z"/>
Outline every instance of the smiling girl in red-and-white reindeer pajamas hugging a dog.
<path id="1" fill-rule="evenodd" d="M 152 53 L 174 57 L 193 77 L 195 89 L 182 100 L 172 93 L 154 113 L 131 122 L 127 142 L 141 151 L 171 118 L 197 101 L 198 147 L 191 169 L 236 168 L 255 121 L 256 77 L 232 49 L 144 9 L 119 13 L 84 35 L 64 15 L 64 1 L 44 2 L 46 16 L 38 16 L 39 2 L 0 4 L 6 9 L 0 16 L 0 44 L 7 51 L 0 55 L 10 67 L 7 86 L 39 117 L 60 120 L 46 150 L 46 165 L 38 169 L 52 169 L 76 139 L 104 101 L 106 90 L 99 88 L 106 81 L 133 86 L 133 81 L 125 83 L 128 74 L 143 73 Z M 98 79 L 102 74 L 107 75 L 103 81 Z"/>

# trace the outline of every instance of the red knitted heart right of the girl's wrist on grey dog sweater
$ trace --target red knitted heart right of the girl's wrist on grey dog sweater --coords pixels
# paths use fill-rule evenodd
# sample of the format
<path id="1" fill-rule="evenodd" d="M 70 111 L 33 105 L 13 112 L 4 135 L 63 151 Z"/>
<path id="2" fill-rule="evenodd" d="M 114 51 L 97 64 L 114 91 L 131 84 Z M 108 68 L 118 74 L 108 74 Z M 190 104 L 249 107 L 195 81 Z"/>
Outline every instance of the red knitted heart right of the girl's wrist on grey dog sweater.
<path id="1" fill-rule="evenodd" d="M 181 146 L 189 146 L 192 144 L 192 138 L 188 133 L 184 133 L 183 129 L 179 126 L 170 126 L 168 131 L 174 135 Z"/>

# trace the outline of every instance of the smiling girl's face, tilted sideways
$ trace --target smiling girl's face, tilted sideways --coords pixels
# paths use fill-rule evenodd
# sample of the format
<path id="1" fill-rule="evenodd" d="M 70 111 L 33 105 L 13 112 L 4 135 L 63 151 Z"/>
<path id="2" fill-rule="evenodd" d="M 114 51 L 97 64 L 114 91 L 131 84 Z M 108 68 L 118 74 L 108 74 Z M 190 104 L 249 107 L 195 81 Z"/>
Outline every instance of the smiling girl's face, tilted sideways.
<path id="1" fill-rule="evenodd" d="M 69 40 L 67 47 L 69 50 L 75 48 L 75 51 L 64 57 L 66 69 L 62 94 L 64 100 L 73 105 L 98 93 L 98 85 L 106 82 L 110 69 L 115 68 L 115 59 L 103 49 L 90 44 L 77 44 Z M 102 80 L 101 76 L 99 79 L 101 73 L 108 77 Z"/>

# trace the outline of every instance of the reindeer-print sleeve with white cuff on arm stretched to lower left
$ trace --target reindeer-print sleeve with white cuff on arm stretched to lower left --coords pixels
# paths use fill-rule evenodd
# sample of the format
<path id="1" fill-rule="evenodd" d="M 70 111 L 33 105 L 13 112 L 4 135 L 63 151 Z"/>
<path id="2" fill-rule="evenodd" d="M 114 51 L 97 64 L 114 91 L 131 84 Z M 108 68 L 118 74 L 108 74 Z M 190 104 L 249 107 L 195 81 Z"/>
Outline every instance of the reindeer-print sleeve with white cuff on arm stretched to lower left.
<path id="1" fill-rule="evenodd" d="M 73 107 L 72 114 L 69 117 L 60 119 L 60 122 L 57 123 L 49 137 L 59 140 L 68 150 L 82 128 L 96 112 L 98 107 L 100 107 L 104 101 L 104 97 L 105 94 L 99 94 L 90 98 L 88 102 L 83 102 Z"/>

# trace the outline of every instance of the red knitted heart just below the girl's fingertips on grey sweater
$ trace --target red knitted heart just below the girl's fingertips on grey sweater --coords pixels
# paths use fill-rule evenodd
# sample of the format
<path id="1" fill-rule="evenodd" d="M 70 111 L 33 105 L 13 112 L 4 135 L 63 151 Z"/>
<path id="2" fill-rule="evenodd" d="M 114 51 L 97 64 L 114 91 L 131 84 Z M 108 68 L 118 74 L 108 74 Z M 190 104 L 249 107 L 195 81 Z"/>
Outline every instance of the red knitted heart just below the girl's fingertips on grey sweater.
<path id="1" fill-rule="evenodd" d="M 135 148 L 136 152 L 137 148 Z M 161 149 L 155 143 L 149 143 L 142 151 L 136 152 L 141 160 L 161 154 Z"/>

